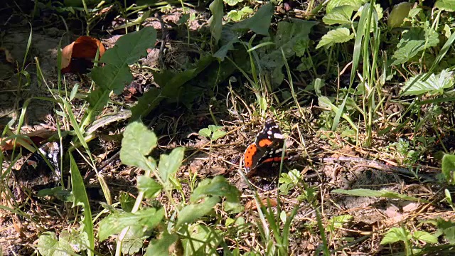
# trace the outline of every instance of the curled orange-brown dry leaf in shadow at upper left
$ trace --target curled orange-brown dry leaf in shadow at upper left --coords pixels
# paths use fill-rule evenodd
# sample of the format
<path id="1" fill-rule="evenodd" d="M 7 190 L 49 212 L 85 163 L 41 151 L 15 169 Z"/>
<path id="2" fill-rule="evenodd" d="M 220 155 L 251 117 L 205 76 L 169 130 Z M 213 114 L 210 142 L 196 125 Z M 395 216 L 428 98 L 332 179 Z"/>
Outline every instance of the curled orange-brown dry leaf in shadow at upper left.
<path id="1" fill-rule="evenodd" d="M 95 59 L 97 50 L 100 48 L 100 58 L 106 49 L 102 43 L 90 36 L 80 36 L 73 43 L 65 46 L 62 50 L 61 68 L 62 73 L 85 73 L 87 68 L 92 68 L 92 60 Z"/>

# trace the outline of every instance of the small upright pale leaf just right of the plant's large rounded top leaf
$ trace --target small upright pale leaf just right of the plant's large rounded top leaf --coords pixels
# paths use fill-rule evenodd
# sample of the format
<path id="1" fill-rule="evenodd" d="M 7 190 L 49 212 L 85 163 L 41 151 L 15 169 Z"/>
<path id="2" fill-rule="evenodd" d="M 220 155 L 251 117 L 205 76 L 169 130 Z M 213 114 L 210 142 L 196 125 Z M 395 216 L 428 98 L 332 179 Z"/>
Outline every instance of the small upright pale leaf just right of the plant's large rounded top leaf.
<path id="1" fill-rule="evenodd" d="M 161 154 L 159 157 L 158 173 L 166 185 L 170 184 L 169 178 L 176 175 L 178 169 L 182 165 L 183 156 L 185 156 L 184 153 L 185 149 L 179 147 L 173 149 L 171 154 Z"/>

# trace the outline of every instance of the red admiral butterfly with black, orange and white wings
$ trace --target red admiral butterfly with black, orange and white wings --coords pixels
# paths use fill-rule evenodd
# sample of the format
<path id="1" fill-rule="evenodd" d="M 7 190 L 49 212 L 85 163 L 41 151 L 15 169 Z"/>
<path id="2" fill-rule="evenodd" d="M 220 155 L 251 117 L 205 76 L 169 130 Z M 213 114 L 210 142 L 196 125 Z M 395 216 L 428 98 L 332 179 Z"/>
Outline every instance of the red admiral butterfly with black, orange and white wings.
<path id="1" fill-rule="evenodd" d="M 282 160 L 284 144 L 283 134 L 273 119 L 267 119 L 264 128 L 257 134 L 254 143 L 245 150 L 244 163 L 246 171 L 252 171 L 260 164 Z"/>

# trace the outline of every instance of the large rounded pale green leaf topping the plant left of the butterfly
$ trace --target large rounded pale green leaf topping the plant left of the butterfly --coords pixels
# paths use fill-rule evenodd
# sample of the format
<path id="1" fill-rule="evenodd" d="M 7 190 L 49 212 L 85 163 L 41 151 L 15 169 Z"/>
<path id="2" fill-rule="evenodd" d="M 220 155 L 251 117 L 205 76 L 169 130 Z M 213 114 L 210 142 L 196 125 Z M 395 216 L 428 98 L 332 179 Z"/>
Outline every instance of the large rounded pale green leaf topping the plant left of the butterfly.
<path id="1" fill-rule="evenodd" d="M 123 164 L 136 166 L 147 170 L 149 159 L 146 159 L 151 149 L 156 146 L 156 135 L 141 122 L 128 124 L 123 133 L 122 149 L 120 149 L 120 160 Z"/>

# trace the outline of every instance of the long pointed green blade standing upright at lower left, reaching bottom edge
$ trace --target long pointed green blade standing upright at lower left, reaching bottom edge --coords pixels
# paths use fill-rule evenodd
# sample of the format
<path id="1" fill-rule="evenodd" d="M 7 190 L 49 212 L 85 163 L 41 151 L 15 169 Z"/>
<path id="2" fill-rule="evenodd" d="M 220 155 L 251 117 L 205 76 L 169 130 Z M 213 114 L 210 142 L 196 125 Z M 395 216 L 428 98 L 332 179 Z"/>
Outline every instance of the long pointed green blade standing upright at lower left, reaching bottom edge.
<path id="1" fill-rule="evenodd" d="M 85 191 L 84 180 L 80 175 L 80 171 L 77 168 L 76 161 L 73 154 L 70 153 L 70 173 L 71 173 L 71 187 L 73 190 L 74 201 L 73 208 L 75 206 L 82 206 L 84 208 L 84 223 L 83 232 L 87 234 L 88 250 L 87 255 L 91 256 L 92 251 L 95 248 L 95 235 L 93 234 L 93 223 L 92 223 L 92 210 L 90 209 L 90 203 L 88 201 L 87 191 Z"/>

